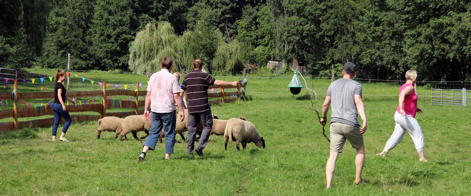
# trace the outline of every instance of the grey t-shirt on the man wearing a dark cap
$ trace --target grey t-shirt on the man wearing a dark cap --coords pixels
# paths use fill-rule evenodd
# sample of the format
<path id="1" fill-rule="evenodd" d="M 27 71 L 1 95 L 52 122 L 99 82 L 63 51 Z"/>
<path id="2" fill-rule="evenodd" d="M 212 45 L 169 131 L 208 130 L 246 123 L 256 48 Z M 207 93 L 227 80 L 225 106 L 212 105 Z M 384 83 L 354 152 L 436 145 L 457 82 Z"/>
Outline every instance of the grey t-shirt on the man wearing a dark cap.
<path id="1" fill-rule="evenodd" d="M 326 96 L 331 97 L 332 115 L 330 123 L 360 126 L 355 95 L 362 96 L 362 85 L 353 80 L 341 78 L 332 82 Z"/>

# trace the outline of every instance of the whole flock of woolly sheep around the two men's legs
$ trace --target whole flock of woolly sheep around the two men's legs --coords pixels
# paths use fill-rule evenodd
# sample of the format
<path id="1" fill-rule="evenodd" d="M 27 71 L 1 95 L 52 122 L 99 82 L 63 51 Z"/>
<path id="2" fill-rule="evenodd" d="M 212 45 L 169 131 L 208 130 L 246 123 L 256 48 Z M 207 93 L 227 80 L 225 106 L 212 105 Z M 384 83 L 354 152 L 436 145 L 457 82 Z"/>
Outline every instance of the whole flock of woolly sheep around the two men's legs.
<path id="1" fill-rule="evenodd" d="M 177 124 L 175 126 L 175 133 L 180 134 L 183 141 L 185 140 L 183 136 L 183 132 L 188 131 L 186 126 L 187 119 L 188 119 L 188 112 L 184 110 L 185 119 L 183 122 L 177 120 Z M 217 116 L 213 116 L 213 125 L 211 134 L 215 135 L 224 135 L 225 137 L 225 149 L 227 150 L 227 142 L 229 140 L 236 142 L 237 150 L 240 150 L 239 144 L 242 144 L 242 148 L 245 149 L 247 143 L 253 142 L 257 147 L 265 148 L 265 140 L 257 131 L 253 123 L 246 121 L 244 117 L 239 118 L 231 118 L 229 120 L 219 120 Z M 178 119 L 178 114 L 177 114 Z M 151 129 L 151 121 L 146 121 L 144 119 L 144 115 L 133 115 L 128 116 L 124 119 L 119 117 L 104 117 L 98 120 L 98 139 L 100 139 L 101 132 L 103 131 L 110 131 L 115 132 L 115 139 L 118 136 L 121 136 L 120 140 L 128 140 L 126 136 L 128 133 L 131 133 L 132 136 L 139 140 L 137 137 L 137 132 L 144 131 L 146 133 L 145 136 L 141 137 L 140 139 L 144 139 L 149 136 L 149 131 Z M 203 124 L 200 123 L 198 126 L 197 134 L 201 135 L 200 133 L 203 130 Z M 164 132 L 161 131 L 159 141 L 162 143 L 162 138 L 164 136 Z"/>

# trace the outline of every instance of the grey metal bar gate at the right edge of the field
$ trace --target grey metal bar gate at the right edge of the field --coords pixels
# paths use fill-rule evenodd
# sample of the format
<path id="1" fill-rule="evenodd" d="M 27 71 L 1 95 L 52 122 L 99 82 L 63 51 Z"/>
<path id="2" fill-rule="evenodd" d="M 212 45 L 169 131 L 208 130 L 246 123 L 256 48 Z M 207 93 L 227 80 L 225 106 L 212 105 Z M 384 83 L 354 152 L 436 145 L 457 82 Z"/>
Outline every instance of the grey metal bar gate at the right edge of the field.
<path id="1" fill-rule="evenodd" d="M 431 89 L 432 105 L 464 106 L 471 104 L 471 90 Z"/>

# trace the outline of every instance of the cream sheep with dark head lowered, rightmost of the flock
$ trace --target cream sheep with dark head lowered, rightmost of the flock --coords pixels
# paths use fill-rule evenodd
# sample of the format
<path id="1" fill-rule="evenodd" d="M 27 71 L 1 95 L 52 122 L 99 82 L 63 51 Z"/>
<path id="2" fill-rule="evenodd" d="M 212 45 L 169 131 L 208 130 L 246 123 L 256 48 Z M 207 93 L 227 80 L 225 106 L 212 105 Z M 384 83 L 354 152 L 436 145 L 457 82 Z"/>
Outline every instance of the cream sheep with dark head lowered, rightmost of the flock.
<path id="1" fill-rule="evenodd" d="M 232 118 L 226 124 L 224 130 L 224 149 L 227 150 L 227 141 L 235 141 L 235 147 L 240 150 L 239 143 L 242 143 L 242 148 L 245 149 L 247 143 L 253 142 L 257 147 L 265 148 L 265 140 L 255 128 L 255 125 L 241 119 Z"/>

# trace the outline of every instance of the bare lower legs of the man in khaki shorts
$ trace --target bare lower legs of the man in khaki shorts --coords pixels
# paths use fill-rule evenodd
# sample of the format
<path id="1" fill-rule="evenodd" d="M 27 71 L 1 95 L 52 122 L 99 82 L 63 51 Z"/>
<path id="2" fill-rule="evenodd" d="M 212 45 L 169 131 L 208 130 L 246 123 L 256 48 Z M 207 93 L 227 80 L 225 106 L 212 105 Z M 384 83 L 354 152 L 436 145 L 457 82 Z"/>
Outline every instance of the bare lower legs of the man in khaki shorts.
<path id="1" fill-rule="evenodd" d="M 339 152 L 330 152 L 329 159 L 325 165 L 325 177 L 327 181 L 326 188 L 332 187 L 332 178 L 334 177 L 335 163 Z M 365 165 L 365 146 L 357 148 L 357 155 L 355 156 L 355 183 L 360 182 L 362 179 L 363 165 Z"/>

